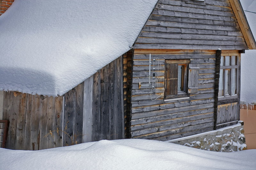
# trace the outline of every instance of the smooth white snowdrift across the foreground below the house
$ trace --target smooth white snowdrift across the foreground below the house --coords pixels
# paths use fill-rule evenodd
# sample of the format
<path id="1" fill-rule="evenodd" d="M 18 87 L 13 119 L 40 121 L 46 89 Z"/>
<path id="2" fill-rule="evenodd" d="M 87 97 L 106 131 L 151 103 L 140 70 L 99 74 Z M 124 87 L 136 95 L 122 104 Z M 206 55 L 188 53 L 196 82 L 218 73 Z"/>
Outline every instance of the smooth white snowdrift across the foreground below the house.
<path id="1" fill-rule="evenodd" d="M 223 153 L 142 139 L 41 151 L 0 148 L 0 169 L 255 169 L 256 150 Z"/>

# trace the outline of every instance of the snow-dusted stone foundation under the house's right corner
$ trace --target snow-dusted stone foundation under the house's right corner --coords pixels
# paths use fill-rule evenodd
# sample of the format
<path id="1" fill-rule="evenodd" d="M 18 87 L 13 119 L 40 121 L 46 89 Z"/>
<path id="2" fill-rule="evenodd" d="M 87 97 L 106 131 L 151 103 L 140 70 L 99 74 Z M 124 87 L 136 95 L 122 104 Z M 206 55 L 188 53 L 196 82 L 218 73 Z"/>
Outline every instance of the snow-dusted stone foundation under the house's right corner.
<path id="1" fill-rule="evenodd" d="M 189 137 L 173 139 L 167 142 L 208 151 L 242 151 L 247 149 L 245 144 L 243 125 L 244 122 L 239 121 L 236 125 L 233 126 L 192 135 Z"/>

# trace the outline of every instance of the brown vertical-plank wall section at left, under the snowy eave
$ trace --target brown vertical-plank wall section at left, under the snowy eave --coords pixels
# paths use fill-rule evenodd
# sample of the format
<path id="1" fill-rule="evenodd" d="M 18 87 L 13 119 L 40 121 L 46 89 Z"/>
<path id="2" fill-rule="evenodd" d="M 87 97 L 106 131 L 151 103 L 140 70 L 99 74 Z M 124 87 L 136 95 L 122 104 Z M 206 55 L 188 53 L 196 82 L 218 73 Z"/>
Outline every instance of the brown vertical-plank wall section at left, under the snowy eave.
<path id="1" fill-rule="evenodd" d="M 9 120 L 6 148 L 39 150 L 62 146 L 63 97 L 4 92 L 3 119 Z M 62 119 L 62 121 L 61 121 Z M 52 131 L 52 135 L 49 133 Z"/>

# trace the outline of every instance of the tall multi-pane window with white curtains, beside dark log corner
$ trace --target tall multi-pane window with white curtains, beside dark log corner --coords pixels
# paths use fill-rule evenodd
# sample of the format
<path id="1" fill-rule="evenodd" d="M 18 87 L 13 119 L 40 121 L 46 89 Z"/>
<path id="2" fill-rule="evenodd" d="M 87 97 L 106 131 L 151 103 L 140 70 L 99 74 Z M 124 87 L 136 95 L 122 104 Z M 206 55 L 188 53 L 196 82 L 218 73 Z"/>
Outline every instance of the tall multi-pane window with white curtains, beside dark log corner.
<path id="1" fill-rule="evenodd" d="M 238 55 L 223 55 L 220 59 L 219 99 L 237 96 Z"/>

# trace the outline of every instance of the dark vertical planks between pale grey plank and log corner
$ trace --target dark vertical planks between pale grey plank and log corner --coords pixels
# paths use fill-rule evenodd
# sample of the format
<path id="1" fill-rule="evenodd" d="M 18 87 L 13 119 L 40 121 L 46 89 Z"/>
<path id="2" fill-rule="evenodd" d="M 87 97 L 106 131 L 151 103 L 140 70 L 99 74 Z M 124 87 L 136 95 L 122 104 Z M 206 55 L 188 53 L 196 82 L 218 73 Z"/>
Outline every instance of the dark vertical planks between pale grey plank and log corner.
<path id="1" fill-rule="evenodd" d="M 92 136 L 91 141 L 124 138 L 122 75 L 123 56 L 120 56 L 92 76 L 92 108 L 88 107 L 92 110 L 92 131 L 85 131 L 85 135 Z"/>

